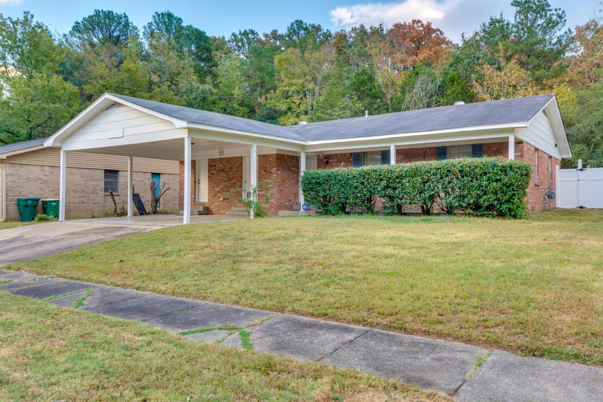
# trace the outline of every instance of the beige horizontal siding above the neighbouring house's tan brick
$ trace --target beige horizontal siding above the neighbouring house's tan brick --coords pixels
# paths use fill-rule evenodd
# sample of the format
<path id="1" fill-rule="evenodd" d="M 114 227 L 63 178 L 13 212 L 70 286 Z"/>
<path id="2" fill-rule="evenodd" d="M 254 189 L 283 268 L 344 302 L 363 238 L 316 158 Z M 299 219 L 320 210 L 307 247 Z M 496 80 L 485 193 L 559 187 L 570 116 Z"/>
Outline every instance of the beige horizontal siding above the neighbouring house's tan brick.
<path id="1" fill-rule="evenodd" d="M 5 162 L 58 166 L 60 164 L 60 148 L 45 147 L 7 156 Z M 178 163 L 178 161 L 166 161 L 165 159 L 134 158 L 134 171 L 178 174 Z M 128 157 L 98 153 L 68 152 L 67 167 L 128 170 Z"/>

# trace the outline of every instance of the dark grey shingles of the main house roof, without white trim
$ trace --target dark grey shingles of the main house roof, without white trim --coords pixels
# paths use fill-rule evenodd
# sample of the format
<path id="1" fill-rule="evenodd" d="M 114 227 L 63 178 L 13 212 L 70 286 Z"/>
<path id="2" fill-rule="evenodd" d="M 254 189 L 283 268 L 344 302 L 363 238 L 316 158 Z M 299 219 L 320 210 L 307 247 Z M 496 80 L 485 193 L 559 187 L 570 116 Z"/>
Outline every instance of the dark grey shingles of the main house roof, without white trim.
<path id="1" fill-rule="evenodd" d="M 524 123 L 530 120 L 555 96 L 552 94 L 537 95 L 283 127 L 242 117 L 192 109 L 191 107 L 176 106 L 124 95 L 111 95 L 188 123 L 206 124 L 207 126 L 224 127 L 299 141 L 362 138 L 376 135 L 490 126 L 492 124 Z"/>

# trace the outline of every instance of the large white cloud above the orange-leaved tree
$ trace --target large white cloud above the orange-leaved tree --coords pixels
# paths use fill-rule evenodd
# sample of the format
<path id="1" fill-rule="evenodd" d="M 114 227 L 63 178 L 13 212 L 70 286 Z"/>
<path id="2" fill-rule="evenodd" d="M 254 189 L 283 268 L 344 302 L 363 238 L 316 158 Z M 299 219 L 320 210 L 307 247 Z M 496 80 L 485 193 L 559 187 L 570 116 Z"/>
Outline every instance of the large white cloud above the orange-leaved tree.
<path id="1" fill-rule="evenodd" d="M 390 3 L 366 3 L 338 6 L 330 11 L 330 19 L 337 28 L 349 29 L 354 25 L 378 25 L 386 27 L 396 22 L 421 19 L 430 21 L 434 27 L 454 42 L 459 42 L 461 33 L 473 33 L 479 24 L 488 21 L 491 15 L 505 11 L 507 18 L 513 18 L 507 2 L 487 2 L 483 0 L 404 0 Z"/>

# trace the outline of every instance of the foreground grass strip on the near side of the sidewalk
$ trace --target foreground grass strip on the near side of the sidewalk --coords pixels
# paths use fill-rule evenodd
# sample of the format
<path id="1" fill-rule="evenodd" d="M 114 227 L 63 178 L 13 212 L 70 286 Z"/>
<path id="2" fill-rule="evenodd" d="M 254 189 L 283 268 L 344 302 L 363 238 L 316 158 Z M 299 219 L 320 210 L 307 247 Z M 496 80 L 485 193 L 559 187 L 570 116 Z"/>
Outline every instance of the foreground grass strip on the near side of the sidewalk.
<path id="1" fill-rule="evenodd" d="M 448 401 L 316 363 L 187 340 L 0 292 L 2 401 Z"/>

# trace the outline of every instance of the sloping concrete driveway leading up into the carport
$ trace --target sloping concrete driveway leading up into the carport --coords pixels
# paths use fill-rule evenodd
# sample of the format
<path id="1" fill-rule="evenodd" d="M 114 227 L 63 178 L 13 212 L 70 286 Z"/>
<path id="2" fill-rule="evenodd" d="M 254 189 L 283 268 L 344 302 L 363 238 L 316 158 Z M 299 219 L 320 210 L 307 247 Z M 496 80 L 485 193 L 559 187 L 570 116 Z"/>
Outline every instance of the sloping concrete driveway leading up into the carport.
<path id="1" fill-rule="evenodd" d="M 191 223 L 236 220 L 223 215 L 194 215 Z M 182 215 L 152 215 L 37 223 L 0 230 L 0 266 L 77 249 L 86 244 L 138 232 L 182 225 Z"/>

